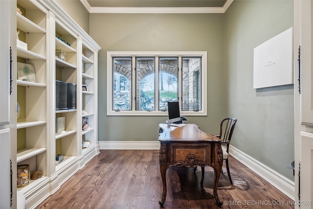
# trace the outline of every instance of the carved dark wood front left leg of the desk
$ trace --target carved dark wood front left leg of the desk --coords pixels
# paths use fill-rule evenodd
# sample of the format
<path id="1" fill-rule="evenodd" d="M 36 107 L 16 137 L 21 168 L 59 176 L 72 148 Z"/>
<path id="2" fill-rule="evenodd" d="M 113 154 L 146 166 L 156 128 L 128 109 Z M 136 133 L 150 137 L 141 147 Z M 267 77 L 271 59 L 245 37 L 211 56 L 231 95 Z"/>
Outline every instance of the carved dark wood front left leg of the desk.
<path id="1" fill-rule="evenodd" d="M 165 198 L 166 198 L 166 170 L 167 170 L 166 146 L 162 142 L 160 144 L 158 160 L 160 164 L 160 172 L 161 172 L 161 178 L 162 178 L 162 183 L 163 183 L 162 199 L 160 199 L 158 203 L 162 207 L 163 204 L 165 203 Z"/>

